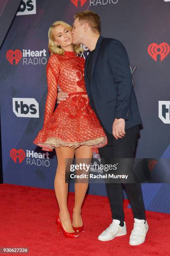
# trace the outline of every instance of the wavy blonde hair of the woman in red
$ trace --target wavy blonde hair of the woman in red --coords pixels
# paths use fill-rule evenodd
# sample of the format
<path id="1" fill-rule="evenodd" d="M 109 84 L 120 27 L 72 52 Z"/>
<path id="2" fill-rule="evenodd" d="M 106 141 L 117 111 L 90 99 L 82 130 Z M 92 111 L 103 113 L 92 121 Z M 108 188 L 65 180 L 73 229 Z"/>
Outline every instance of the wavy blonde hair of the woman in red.
<path id="1" fill-rule="evenodd" d="M 53 30 L 54 28 L 56 28 L 56 26 L 59 26 L 59 25 L 63 25 L 69 30 L 73 29 L 72 26 L 70 26 L 64 21 L 59 20 L 54 22 L 48 30 L 48 49 L 51 54 L 56 53 L 56 54 L 64 55 L 64 50 L 61 48 L 61 46 L 58 46 L 58 44 L 54 42 Z M 81 46 L 81 44 L 79 45 L 73 44 L 73 50 L 76 54 L 79 54 L 79 55 L 81 54 L 81 52 L 84 52 L 84 49 Z"/>

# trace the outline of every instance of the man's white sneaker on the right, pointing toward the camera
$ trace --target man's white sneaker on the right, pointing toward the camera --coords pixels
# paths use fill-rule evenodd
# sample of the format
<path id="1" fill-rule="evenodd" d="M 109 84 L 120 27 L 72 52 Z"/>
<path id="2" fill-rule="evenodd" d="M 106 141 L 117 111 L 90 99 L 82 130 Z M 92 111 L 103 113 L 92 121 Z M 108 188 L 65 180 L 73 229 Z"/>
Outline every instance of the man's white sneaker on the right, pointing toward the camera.
<path id="1" fill-rule="evenodd" d="M 134 228 L 130 235 L 129 244 L 130 245 L 139 245 L 145 241 L 147 230 L 149 228 L 147 221 L 138 220 L 134 218 Z"/>

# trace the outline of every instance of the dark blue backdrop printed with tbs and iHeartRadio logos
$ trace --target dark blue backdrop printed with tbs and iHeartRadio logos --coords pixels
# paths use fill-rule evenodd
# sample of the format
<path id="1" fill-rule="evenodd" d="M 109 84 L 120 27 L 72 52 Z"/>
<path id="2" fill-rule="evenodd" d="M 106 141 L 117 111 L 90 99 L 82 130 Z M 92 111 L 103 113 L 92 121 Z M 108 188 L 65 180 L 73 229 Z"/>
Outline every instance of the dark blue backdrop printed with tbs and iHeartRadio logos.
<path id="1" fill-rule="evenodd" d="M 151 172 L 170 158 L 170 0 L 23 0 L 0 51 L 4 183 L 54 188 L 55 150 L 33 144 L 46 103 L 48 29 L 56 20 L 73 24 L 83 10 L 98 13 L 101 35 L 127 49 L 143 126 L 136 157 L 156 159 Z M 143 183 L 142 191 L 147 210 L 170 213 L 170 184 Z M 105 184 L 89 184 L 88 193 L 107 195 Z"/>

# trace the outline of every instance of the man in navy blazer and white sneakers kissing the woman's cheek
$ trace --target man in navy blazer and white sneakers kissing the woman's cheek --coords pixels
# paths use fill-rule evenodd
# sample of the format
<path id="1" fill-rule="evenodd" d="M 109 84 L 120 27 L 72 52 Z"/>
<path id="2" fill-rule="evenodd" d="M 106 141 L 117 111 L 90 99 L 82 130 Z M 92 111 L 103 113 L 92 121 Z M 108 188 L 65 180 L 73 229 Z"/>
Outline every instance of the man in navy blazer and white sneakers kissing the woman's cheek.
<path id="1" fill-rule="evenodd" d="M 89 10 L 74 16 L 72 37 L 73 44 L 84 44 L 90 51 L 84 70 L 86 91 L 108 138 L 108 144 L 99 148 L 100 157 L 122 158 L 121 164 L 126 172 L 127 161 L 123 162 L 123 159 L 134 158 L 139 124 L 142 123 L 127 51 L 119 40 L 100 35 L 100 17 Z M 58 102 L 62 100 L 61 95 L 62 92 L 58 93 Z M 124 186 L 134 215 L 129 244 L 139 245 L 145 241 L 148 230 L 141 186 L 139 182 L 124 183 Z M 108 182 L 106 188 L 112 223 L 99 235 L 100 241 L 127 234 L 122 184 Z"/>

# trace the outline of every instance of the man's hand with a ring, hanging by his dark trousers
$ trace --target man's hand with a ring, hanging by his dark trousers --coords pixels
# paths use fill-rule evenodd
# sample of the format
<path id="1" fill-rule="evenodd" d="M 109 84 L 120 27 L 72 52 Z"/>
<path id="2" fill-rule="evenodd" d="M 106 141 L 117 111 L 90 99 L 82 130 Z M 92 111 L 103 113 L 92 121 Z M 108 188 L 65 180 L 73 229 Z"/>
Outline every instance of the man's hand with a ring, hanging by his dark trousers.
<path id="1" fill-rule="evenodd" d="M 112 133 L 114 138 L 123 138 L 125 136 L 125 121 L 123 118 L 115 118 L 112 126 Z"/>

